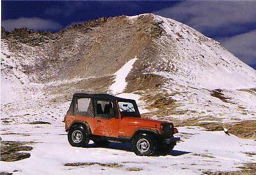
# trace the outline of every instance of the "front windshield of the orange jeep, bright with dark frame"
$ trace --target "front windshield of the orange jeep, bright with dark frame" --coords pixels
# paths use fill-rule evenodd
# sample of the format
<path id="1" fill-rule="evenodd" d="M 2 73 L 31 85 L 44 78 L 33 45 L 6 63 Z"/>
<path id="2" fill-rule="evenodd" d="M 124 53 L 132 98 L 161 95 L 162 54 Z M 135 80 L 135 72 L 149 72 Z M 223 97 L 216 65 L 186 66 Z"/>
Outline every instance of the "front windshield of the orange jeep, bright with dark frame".
<path id="1" fill-rule="evenodd" d="M 134 104 L 124 101 L 118 102 L 119 111 L 122 116 L 132 116 L 139 117 L 140 114 L 137 112 L 137 107 L 134 107 Z"/>

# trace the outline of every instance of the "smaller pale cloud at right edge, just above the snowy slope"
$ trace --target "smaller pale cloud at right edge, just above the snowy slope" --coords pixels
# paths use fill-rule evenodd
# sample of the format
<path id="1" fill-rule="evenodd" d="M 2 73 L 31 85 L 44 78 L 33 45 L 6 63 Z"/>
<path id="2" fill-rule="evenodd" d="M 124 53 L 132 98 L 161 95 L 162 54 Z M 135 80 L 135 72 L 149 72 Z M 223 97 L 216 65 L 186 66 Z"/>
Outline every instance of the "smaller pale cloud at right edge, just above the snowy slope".
<path id="1" fill-rule="evenodd" d="M 225 48 L 247 64 L 256 63 L 256 30 L 220 40 Z"/>

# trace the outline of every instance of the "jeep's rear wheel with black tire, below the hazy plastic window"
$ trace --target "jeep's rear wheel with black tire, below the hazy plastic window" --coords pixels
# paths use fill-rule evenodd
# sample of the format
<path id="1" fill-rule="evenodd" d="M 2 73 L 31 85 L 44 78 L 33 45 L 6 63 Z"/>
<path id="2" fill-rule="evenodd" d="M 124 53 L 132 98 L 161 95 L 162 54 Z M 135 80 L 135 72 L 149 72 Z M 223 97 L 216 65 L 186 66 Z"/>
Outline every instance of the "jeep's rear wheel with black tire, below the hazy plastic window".
<path id="1" fill-rule="evenodd" d="M 81 125 L 70 128 L 67 138 L 73 147 L 86 147 L 90 141 L 88 129 Z"/>

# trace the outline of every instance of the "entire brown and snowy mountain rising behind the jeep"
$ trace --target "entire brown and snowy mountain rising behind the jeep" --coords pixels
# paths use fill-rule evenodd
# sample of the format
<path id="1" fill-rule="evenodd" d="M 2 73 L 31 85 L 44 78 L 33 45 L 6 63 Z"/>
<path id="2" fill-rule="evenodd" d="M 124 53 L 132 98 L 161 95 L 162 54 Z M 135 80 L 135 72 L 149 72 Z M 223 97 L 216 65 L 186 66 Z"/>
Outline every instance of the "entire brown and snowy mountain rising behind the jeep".
<path id="1" fill-rule="evenodd" d="M 141 113 L 161 120 L 256 115 L 255 70 L 195 29 L 153 14 L 51 35 L 10 33 L 1 39 L 1 63 L 1 117 L 8 122 L 60 122 L 76 92 L 140 97 Z"/>

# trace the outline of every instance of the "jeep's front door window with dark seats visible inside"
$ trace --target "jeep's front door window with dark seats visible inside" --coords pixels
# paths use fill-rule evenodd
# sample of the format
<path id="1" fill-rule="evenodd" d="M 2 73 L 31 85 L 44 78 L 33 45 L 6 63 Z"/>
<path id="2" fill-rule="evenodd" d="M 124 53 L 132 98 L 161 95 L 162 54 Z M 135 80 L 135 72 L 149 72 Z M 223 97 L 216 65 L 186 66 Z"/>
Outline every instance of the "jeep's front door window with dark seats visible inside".
<path id="1" fill-rule="evenodd" d="M 112 118 L 115 117 L 114 103 L 112 101 L 96 100 L 96 117 Z"/>

